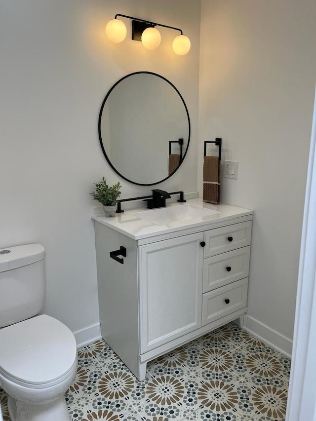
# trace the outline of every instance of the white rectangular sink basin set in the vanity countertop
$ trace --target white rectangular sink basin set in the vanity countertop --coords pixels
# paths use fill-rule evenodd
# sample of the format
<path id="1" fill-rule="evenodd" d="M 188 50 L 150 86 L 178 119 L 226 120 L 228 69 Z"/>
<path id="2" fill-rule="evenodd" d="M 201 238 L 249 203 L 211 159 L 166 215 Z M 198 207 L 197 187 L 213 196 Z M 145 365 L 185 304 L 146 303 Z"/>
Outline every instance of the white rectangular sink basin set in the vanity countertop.
<path id="1" fill-rule="evenodd" d="M 187 221 L 189 219 L 207 217 L 217 213 L 220 212 L 186 204 L 137 212 L 133 215 L 140 219 L 151 221 L 156 225 L 164 225 L 170 222 L 180 222 Z"/>

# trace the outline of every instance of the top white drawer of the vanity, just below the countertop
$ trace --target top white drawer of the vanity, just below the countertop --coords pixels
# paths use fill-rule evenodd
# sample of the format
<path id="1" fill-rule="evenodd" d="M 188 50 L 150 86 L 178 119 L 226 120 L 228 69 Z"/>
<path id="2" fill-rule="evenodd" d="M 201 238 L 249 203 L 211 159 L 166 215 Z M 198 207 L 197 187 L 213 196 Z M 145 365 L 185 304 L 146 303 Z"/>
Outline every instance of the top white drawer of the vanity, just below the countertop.
<path id="1" fill-rule="evenodd" d="M 251 221 L 204 232 L 204 259 L 250 244 Z"/>

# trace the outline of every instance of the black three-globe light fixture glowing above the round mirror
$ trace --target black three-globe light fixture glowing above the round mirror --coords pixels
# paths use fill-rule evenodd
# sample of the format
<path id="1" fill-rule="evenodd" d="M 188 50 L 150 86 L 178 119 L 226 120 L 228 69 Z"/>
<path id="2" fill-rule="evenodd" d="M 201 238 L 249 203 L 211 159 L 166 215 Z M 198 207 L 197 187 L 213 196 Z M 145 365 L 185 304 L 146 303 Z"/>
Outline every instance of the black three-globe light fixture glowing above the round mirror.
<path id="1" fill-rule="evenodd" d="M 105 30 L 107 37 L 113 42 L 123 41 L 127 33 L 124 22 L 118 19 L 118 16 L 132 20 L 132 39 L 136 41 L 142 41 L 144 47 L 148 48 L 149 50 L 154 50 L 157 48 L 161 41 L 161 36 L 158 29 L 155 28 L 156 26 L 173 29 L 180 32 L 180 35 L 177 35 L 172 42 L 172 48 L 176 54 L 183 56 L 190 50 L 190 39 L 186 35 L 183 35 L 183 32 L 180 28 L 174 28 L 172 26 L 162 25 L 157 22 L 134 18 L 132 16 L 121 15 L 119 13 L 115 15 L 114 19 L 111 19 L 108 22 Z"/>

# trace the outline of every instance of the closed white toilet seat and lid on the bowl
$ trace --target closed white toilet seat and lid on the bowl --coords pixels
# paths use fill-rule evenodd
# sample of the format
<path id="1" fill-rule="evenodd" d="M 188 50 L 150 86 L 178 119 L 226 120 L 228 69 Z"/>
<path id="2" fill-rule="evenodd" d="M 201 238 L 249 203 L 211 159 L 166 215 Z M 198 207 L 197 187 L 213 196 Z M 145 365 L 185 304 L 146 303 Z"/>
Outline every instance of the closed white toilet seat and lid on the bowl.
<path id="1" fill-rule="evenodd" d="M 77 367 L 76 340 L 45 314 L 0 329 L 0 375 L 30 388 L 58 384 Z"/>

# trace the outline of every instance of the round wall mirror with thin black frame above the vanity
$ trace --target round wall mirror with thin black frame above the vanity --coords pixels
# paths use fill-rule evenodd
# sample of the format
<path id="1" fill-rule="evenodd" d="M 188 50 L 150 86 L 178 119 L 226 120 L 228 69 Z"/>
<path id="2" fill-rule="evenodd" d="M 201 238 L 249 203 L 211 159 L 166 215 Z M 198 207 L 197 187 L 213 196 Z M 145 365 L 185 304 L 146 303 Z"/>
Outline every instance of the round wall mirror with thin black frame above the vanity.
<path id="1" fill-rule="evenodd" d="M 132 73 L 107 93 L 99 115 L 99 139 L 107 161 L 122 178 L 142 186 L 161 183 L 187 153 L 187 106 L 166 78 Z"/>

